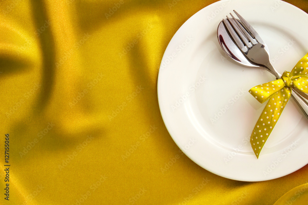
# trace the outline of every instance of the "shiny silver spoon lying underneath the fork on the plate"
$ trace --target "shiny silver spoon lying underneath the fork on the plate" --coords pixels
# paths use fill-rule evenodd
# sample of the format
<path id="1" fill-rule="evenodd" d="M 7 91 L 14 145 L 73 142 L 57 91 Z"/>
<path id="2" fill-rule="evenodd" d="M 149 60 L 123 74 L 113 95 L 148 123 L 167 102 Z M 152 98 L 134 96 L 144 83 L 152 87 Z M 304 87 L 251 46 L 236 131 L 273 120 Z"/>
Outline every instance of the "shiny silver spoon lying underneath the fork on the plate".
<path id="1" fill-rule="evenodd" d="M 233 19 L 232 19 L 233 20 Z M 234 20 L 233 20 L 234 21 Z M 270 69 L 254 64 L 253 62 L 251 62 L 250 60 L 248 60 L 245 55 L 241 52 L 241 50 L 237 47 L 237 45 L 235 45 L 235 43 L 233 42 L 233 40 L 231 39 L 231 37 L 229 36 L 228 31 L 225 28 L 225 25 L 223 23 L 223 21 L 220 22 L 218 29 L 217 29 L 217 37 L 218 37 L 218 41 L 219 44 L 221 45 L 221 48 L 224 50 L 224 52 L 235 62 L 241 64 L 241 65 L 245 65 L 247 67 L 251 67 L 251 68 L 261 68 L 261 69 L 265 69 L 268 72 L 272 73 L 270 71 Z M 266 48 L 268 53 L 269 50 L 268 48 Z M 272 73 L 273 74 L 273 73 Z M 306 118 L 308 119 L 308 109 L 307 109 L 307 104 L 308 104 L 308 96 L 306 95 L 306 93 L 302 93 L 299 90 L 293 90 L 294 92 L 292 92 L 292 96 L 295 98 L 297 104 L 299 105 L 299 107 L 301 108 L 301 110 L 303 111 L 304 115 L 306 116 Z M 302 97 L 299 96 L 299 93 L 302 94 Z M 305 99 L 306 98 L 306 99 Z M 304 102 L 306 101 L 306 102 Z"/>

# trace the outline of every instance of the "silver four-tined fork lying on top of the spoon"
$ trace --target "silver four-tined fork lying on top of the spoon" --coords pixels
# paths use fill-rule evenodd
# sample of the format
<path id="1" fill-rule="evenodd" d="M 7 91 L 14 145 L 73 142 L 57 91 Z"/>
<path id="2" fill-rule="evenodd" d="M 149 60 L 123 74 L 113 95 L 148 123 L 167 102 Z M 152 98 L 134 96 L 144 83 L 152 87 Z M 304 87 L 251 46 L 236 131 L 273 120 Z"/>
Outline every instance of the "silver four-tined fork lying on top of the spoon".
<path id="1" fill-rule="evenodd" d="M 223 22 L 237 47 L 251 62 L 267 68 L 277 79 L 281 78 L 281 74 L 274 69 L 270 62 L 269 49 L 265 42 L 240 14 L 235 10 L 233 11 L 240 21 L 230 13 L 232 18 L 227 16 L 227 19 L 224 19 Z M 292 96 L 308 119 L 308 96 L 306 93 L 297 91 L 294 88 L 292 88 L 292 91 Z M 301 93 L 302 96 L 299 93 Z"/>

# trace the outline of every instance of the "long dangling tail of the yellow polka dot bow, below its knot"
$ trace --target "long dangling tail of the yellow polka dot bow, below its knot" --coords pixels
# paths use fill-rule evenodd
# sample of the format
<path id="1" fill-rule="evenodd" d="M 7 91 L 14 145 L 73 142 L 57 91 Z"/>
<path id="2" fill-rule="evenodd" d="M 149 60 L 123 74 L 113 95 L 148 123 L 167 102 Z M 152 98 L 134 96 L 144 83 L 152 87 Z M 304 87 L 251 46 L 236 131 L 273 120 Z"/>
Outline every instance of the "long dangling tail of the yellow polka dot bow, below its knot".
<path id="1" fill-rule="evenodd" d="M 291 92 L 291 88 L 285 86 L 269 99 L 262 111 L 250 137 L 250 144 L 257 158 L 289 101 Z"/>

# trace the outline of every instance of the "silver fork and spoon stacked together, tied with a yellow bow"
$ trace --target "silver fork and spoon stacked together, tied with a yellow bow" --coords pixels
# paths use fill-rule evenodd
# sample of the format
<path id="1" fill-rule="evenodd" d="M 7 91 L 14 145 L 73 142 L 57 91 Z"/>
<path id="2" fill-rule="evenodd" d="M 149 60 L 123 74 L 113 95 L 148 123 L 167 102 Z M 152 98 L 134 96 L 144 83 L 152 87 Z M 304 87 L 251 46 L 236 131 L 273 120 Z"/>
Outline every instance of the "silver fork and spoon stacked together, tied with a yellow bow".
<path id="1" fill-rule="evenodd" d="M 262 68 L 272 73 L 277 79 L 281 77 L 270 63 L 269 49 L 253 27 L 239 15 L 236 19 L 227 16 L 218 26 L 217 36 L 222 49 L 234 61 L 253 68 Z M 229 31 L 229 33 L 227 32 Z M 308 119 L 308 98 L 306 93 L 292 89 L 292 96 Z M 304 97 L 302 97 L 301 93 Z"/>

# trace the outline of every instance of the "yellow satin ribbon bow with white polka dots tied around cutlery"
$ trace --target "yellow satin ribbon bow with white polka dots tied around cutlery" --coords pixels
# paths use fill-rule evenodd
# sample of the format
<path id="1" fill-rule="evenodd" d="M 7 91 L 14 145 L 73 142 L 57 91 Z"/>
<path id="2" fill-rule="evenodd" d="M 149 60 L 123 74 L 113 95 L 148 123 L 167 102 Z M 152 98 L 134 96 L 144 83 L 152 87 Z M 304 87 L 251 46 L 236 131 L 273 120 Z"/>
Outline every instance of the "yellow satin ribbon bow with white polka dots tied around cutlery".
<path id="1" fill-rule="evenodd" d="M 257 85 L 249 90 L 249 93 L 260 103 L 268 100 L 250 137 L 250 144 L 257 158 L 259 158 L 261 149 L 291 97 L 292 87 L 308 93 L 307 74 L 308 53 L 296 64 L 291 72 L 285 71 L 280 79 Z"/>

